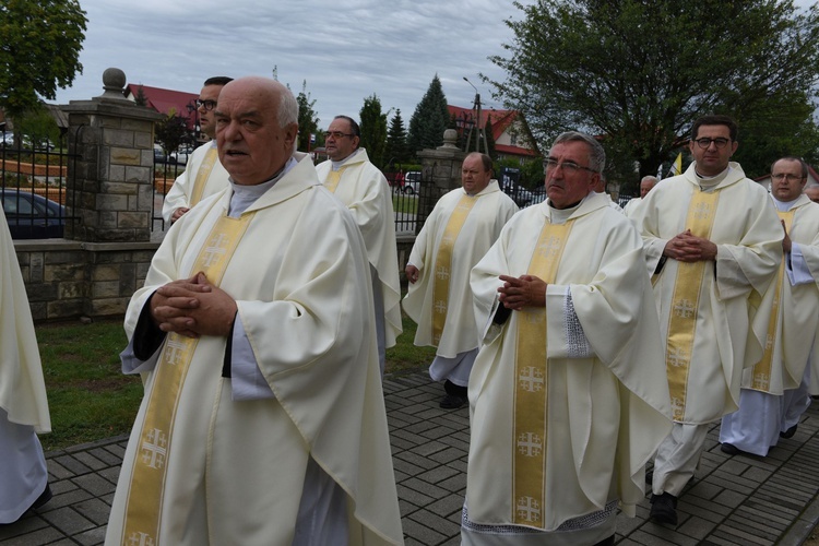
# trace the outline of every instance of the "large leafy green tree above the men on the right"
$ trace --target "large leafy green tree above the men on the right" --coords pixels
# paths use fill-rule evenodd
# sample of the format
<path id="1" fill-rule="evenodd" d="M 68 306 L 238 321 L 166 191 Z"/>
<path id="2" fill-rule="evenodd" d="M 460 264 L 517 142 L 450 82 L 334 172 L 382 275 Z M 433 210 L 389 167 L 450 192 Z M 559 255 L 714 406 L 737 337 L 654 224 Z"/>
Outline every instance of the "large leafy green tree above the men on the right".
<path id="1" fill-rule="evenodd" d="M 505 82 L 491 82 L 496 98 L 521 110 L 538 139 L 567 129 L 600 135 L 621 166 L 639 162 L 640 176 L 678 153 L 699 116 L 727 114 L 741 127 L 792 90 L 814 90 L 819 73 L 817 5 L 804 12 L 791 0 L 515 7 L 524 19 L 507 21 L 514 33 L 505 45 L 509 56 L 491 57 L 507 72 Z"/>

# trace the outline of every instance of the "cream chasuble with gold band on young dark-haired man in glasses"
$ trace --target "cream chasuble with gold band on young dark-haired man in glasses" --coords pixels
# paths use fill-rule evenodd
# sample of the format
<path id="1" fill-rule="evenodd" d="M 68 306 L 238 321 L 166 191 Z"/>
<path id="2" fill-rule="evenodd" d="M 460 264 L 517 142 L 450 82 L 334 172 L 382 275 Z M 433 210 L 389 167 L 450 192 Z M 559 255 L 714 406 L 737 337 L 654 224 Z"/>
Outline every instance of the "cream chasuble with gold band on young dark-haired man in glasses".
<path id="1" fill-rule="evenodd" d="M 674 419 L 703 425 L 737 408 L 743 369 L 762 357 L 768 318 L 761 333 L 759 318 L 751 324 L 782 258 L 782 226 L 764 188 L 745 178 L 738 164 L 732 163 L 709 191 L 700 189 L 695 167 L 662 180 L 640 203 L 634 221 L 648 271 L 656 273 Z M 711 199 L 715 209 L 705 221 L 703 201 Z M 701 237 L 709 233 L 717 247 L 715 261 L 663 259 L 668 240 L 686 229 Z"/>

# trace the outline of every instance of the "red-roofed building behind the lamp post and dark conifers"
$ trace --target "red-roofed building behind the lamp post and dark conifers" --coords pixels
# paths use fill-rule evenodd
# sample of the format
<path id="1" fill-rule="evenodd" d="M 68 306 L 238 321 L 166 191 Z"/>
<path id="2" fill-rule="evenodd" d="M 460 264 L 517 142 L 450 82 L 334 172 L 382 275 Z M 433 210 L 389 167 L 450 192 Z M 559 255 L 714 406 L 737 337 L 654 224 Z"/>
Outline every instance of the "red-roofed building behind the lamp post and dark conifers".
<path id="1" fill-rule="evenodd" d="M 450 117 L 455 119 L 455 127 L 460 135 L 468 132 L 470 127 L 474 127 L 475 110 L 452 105 L 447 105 L 447 108 Z M 478 126 L 480 128 L 486 127 L 487 120 L 489 120 L 491 127 L 495 152 L 499 159 L 518 157 L 523 161 L 541 155 L 526 120 L 518 110 L 496 110 L 491 108 L 482 110 Z"/>

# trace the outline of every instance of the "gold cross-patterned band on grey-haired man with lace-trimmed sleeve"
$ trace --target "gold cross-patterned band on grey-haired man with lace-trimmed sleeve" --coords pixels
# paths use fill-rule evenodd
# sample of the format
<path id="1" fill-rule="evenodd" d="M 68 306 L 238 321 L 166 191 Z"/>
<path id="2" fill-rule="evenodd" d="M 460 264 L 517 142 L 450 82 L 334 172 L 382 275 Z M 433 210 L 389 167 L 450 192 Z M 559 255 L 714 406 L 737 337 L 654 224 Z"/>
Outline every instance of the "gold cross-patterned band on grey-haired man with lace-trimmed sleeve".
<path id="1" fill-rule="evenodd" d="M 553 284 L 574 223 L 543 226 L 527 273 Z M 546 308 L 518 311 L 514 361 L 514 454 L 512 456 L 513 523 L 543 529 L 546 501 L 547 390 Z M 569 441 L 563 439 L 563 441 Z"/>

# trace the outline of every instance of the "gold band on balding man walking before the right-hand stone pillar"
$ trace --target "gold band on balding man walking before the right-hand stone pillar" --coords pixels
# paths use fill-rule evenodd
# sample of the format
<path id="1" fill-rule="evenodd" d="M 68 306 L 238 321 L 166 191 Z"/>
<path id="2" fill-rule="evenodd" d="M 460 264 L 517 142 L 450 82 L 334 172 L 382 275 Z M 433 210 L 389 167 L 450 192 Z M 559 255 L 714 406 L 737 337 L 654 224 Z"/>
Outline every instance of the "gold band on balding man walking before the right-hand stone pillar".
<path id="1" fill-rule="evenodd" d="M 449 308 L 449 282 L 452 276 L 452 248 L 455 246 L 458 235 L 461 233 L 466 217 L 475 206 L 477 197 L 464 193 L 458 202 L 455 210 L 447 221 L 443 229 L 441 244 L 435 257 L 435 283 L 432 285 L 432 343 L 438 345 L 443 333 L 443 324 L 447 322 L 447 310 Z M 468 281 L 466 281 L 468 282 Z"/>

